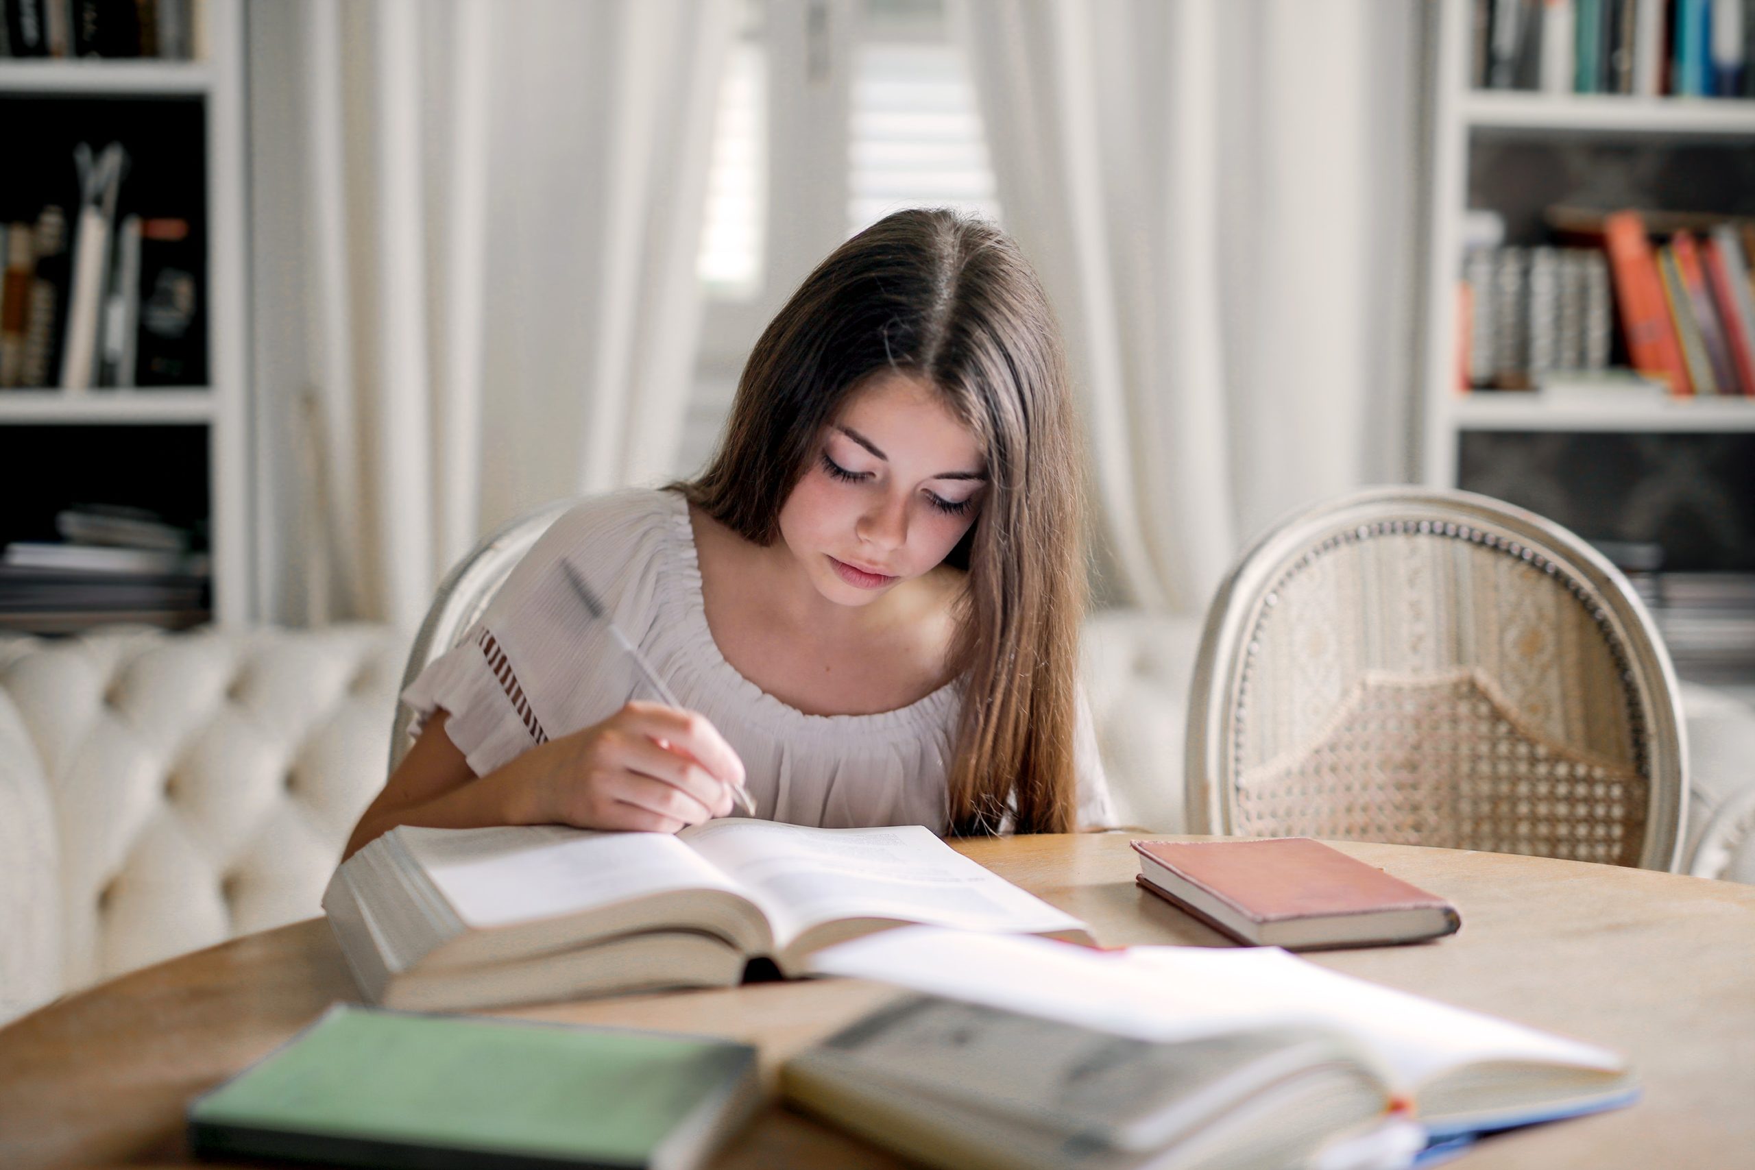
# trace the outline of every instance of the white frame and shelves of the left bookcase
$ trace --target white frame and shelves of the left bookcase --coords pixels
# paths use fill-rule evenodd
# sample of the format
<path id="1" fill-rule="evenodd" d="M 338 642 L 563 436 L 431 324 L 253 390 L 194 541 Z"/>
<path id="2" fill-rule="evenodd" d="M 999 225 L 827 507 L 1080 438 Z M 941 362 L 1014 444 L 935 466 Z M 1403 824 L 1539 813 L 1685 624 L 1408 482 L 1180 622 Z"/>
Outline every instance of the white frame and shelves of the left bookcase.
<path id="1" fill-rule="evenodd" d="M 205 0 L 195 61 L 7 60 L 0 100 L 191 98 L 204 109 L 207 386 L 154 389 L 5 389 L 0 428 L 193 424 L 207 432 L 207 502 L 214 621 L 254 617 L 249 551 L 249 319 L 246 314 L 244 12 L 242 0 Z M 126 181 L 125 181 L 126 182 Z M 126 503 L 126 500 L 118 500 Z"/>

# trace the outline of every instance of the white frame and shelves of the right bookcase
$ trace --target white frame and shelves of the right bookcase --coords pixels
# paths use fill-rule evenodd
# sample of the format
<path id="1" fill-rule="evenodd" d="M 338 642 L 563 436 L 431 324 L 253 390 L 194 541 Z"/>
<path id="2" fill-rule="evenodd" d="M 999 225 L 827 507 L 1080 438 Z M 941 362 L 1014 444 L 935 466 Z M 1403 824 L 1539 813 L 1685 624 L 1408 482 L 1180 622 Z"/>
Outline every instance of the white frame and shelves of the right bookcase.
<path id="1" fill-rule="evenodd" d="M 1536 137 L 1557 146 L 1604 140 L 1634 149 L 1678 140 L 1755 149 L 1755 102 L 1478 91 L 1469 84 L 1469 0 L 1436 9 L 1427 191 L 1422 479 L 1457 484 L 1457 447 L 1467 432 L 1755 432 L 1755 398 L 1581 403 L 1536 393 L 1462 393 L 1457 388 L 1457 288 L 1462 218 L 1469 198 L 1471 140 Z"/>

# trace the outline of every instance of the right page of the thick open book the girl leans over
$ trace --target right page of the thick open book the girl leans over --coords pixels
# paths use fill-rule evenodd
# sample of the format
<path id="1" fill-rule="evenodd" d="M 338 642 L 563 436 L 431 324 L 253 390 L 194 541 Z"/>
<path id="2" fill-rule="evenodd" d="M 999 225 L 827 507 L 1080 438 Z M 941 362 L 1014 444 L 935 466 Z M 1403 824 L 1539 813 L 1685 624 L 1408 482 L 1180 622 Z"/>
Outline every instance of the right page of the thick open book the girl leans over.
<path id="1" fill-rule="evenodd" d="M 851 917 L 1000 931 L 1085 926 L 921 824 L 806 828 L 727 817 L 679 837 L 742 886 L 781 947 L 811 926 Z"/>

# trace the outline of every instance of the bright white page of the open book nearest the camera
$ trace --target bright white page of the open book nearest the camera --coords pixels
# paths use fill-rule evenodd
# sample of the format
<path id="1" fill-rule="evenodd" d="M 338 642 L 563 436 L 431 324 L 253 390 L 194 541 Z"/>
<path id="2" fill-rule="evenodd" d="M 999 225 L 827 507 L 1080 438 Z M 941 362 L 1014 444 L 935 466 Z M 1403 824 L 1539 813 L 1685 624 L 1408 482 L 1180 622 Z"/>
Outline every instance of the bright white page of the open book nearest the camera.
<path id="1" fill-rule="evenodd" d="M 1476 1061 L 1625 1067 L 1606 1049 L 1341 975 L 1278 947 L 1090 951 L 914 928 L 830 947 L 811 968 L 1141 1040 L 1285 1024 L 1339 1028 L 1404 1091 Z"/>

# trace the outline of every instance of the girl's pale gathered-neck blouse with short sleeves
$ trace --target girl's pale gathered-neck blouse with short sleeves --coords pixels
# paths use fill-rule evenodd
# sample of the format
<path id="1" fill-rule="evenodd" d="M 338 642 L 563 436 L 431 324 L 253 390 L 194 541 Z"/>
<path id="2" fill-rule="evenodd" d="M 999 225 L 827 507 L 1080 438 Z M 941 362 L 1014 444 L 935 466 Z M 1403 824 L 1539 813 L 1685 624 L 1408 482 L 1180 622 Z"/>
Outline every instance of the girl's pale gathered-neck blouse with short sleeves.
<path id="1" fill-rule="evenodd" d="M 627 489 L 562 516 L 518 563 L 463 640 L 402 693 L 419 735 L 437 709 L 476 775 L 656 698 L 572 591 L 562 561 L 602 596 L 677 700 L 713 721 L 742 758 L 756 816 L 827 828 L 948 826 L 946 774 L 960 681 L 874 716 L 809 716 L 737 672 L 707 628 L 688 502 Z M 1113 823 L 1090 709 L 1074 742 L 1081 826 Z"/>

